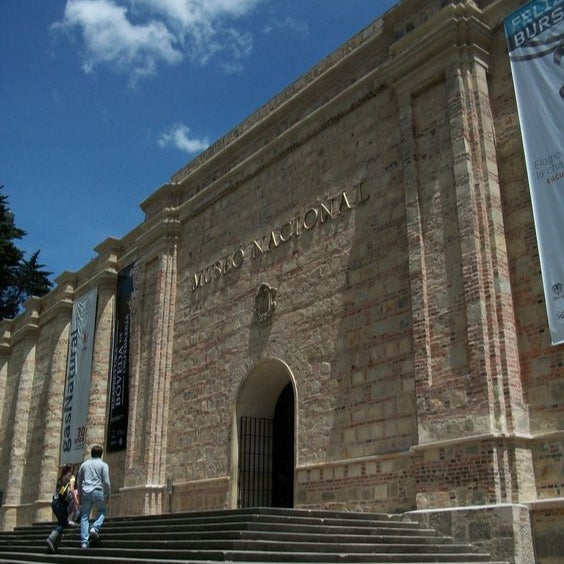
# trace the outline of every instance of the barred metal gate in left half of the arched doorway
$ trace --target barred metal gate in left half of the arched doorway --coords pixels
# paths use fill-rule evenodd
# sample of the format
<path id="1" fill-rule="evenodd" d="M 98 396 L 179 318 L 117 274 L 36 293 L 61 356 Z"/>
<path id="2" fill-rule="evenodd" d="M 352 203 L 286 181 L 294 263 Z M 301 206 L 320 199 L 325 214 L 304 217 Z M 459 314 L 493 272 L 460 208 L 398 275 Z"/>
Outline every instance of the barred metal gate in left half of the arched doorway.
<path id="1" fill-rule="evenodd" d="M 241 417 L 239 507 L 272 504 L 272 419 Z"/>

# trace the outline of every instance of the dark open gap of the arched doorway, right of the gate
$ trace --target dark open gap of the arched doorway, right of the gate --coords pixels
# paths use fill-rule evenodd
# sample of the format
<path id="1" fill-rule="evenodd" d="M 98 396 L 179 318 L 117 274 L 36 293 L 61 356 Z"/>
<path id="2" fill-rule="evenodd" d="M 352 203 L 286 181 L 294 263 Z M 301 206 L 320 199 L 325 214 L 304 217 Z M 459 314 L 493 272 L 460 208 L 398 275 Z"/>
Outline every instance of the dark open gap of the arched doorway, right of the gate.
<path id="1" fill-rule="evenodd" d="M 274 408 L 272 506 L 294 506 L 294 390 L 288 384 Z"/>

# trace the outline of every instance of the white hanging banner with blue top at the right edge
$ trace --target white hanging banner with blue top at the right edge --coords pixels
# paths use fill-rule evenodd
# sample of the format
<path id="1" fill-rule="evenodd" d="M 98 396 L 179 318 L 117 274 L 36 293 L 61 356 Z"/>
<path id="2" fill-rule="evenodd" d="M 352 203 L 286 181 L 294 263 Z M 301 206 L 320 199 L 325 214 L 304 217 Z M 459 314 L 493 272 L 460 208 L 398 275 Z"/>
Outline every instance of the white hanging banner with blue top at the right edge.
<path id="1" fill-rule="evenodd" d="M 556 345 L 564 342 L 564 0 L 534 0 L 504 23 Z"/>

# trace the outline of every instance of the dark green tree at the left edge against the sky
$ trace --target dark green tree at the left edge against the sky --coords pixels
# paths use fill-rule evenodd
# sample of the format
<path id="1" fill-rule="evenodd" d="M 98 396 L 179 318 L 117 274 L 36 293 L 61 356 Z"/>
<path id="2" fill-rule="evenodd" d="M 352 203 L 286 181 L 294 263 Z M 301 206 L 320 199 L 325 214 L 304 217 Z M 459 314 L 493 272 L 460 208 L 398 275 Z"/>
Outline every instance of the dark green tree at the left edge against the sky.
<path id="1" fill-rule="evenodd" d="M 0 186 L 2 190 L 4 186 Z M 43 296 L 53 286 L 50 272 L 39 263 L 39 251 L 26 260 L 14 243 L 26 232 L 16 227 L 8 197 L 0 192 L 0 319 L 12 319 L 30 296 Z"/>

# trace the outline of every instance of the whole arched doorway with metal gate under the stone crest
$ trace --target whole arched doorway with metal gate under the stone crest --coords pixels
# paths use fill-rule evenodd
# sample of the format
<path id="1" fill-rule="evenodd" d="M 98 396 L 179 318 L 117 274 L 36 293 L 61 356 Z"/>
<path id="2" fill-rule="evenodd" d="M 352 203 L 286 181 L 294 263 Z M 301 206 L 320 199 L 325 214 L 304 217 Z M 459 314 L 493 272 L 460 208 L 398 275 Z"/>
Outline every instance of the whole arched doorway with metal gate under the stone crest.
<path id="1" fill-rule="evenodd" d="M 294 404 L 284 362 L 264 360 L 249 371 L 234 410 L 232 506 L 293 507 Z"/>

